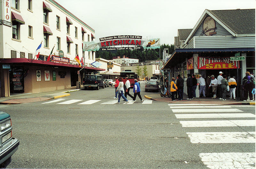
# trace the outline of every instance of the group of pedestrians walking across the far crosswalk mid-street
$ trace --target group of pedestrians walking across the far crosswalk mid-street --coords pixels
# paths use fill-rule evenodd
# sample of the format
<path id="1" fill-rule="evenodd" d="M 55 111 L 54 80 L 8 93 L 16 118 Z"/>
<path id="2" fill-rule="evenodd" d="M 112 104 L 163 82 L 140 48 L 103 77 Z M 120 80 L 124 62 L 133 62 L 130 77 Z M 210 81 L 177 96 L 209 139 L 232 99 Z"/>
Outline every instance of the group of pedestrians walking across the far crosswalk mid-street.
<path id="1" fill-rule="evenodd" d="M 132 98 L 132 101 L 135 102 L 137 95 L 140 98 L 140 102 L 142 101 L 142 98 L 140 96 L 140 83 L 138 82 L 137 79 L 134 79 L 134 86 L 133 86 L 133 93 L 134 95 L 132 96 L 130 94 L 130 88 L 131 88 L 131 83 L 128 80 L 128 77 L 125 78 L 126 82 L 124 84 L 123 82 L 123 78 L 120 77 L 117 79 L 117 77 L 115 77 L 115 94 L 116 96 L 114 97 L 114 99 L 118 98 L 118 101 L 116 102 L 116 104 L 120 104 L 120 98 L 122 97 L 125 101 L 125 104 L 129 103 L 129 101 L 127 100 L 127 95 L 130 96 Z M 118 97 L 117 97 L 118 94 Z"/>

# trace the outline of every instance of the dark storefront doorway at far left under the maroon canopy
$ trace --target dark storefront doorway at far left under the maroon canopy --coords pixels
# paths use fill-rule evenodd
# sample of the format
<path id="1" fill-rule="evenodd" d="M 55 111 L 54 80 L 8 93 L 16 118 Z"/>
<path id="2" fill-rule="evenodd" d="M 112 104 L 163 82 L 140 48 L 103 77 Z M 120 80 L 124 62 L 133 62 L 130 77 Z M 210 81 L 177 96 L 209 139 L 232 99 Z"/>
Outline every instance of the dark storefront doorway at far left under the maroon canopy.
<path id="1" fill-rule="evenodd" d="M 24 72 L 22 66 L 12 66 L 10 71 L 10 93 L 24 93 Z"/>

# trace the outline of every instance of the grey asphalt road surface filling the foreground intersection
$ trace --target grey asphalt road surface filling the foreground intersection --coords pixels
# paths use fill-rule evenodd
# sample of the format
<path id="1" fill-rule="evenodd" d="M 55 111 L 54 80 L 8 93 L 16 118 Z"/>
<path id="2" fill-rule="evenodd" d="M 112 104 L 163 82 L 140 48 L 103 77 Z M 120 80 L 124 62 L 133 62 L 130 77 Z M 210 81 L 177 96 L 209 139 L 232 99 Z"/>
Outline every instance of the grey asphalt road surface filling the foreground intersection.
<path id="1" fill-rule="evenodd" d="M 154 94 L 144 92 L 144 86 L 141 83 L 142 97 Z M 53 101 L 48 100 L 0 105 L 2 111 L 11 115 L 12 135 L 20 140 L 8 168 L 206 169 L 200 153 L 255 152 L 255 142 L 192 143 L 188 136 L 190 132 L 250 133 L 255 132 L 255 126 L 184 127 L 180 124 L 185 120 L 255 120 L 253 106 L 232 109 L 254 117 L 177 119 L 177 114 L 186 113 L 174 113 L 175 110 L 164 102 L 142 104 L 137 97 L 133 104 L 107 104 L 117 101 L 113 99 L 114 90 L 114 87 L 79 90 L 55 103 L 46 103 Z M 70 100 L 79 101 L 58 104 Z M 80 104 L 88 100 L 100 101 Z M 143 97 L 143 100 L 147 99 Z M 184 109 L 188 108 L 180 110 Z M 228 109 L 231 108 L 225 110 Z M 255 140 L 255 134 L 247 137 L 250 136 Z"/>

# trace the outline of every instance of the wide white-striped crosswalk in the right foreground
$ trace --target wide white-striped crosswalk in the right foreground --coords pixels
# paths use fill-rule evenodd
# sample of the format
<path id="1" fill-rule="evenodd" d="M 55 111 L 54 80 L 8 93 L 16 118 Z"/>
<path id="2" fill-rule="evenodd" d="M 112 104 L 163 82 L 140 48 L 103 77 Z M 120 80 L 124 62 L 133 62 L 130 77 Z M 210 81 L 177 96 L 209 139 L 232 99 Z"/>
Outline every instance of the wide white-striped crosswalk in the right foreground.
<path id="1" fill-rule="evenodd" d="M 193 131 L 186 132 L 190 142 L 193 144 L 213 144 L 213 146 L 214 144 L 221 144 L 223 147 L 225 147 L 225 144 L 230 143 L 255 144 L 255 115 L 239 109 L 239 107 L 249 108 L 255 106 L 212 104 L 168 105 L 172 112 L 174 112 L 175 117 L 180 119 L 182 127 L 186 131 Z M 209 128 L 212 131 L 214 127 L 219 127 L 217 129 L 218 132 L 202 132 L 208 131 Z M 220 127 L 229 128 L 223 128 L 225 131 L 221 131 L 222 128 Z M 239 130 L 239 132 L 234 132 L 236 129 L 232 127 L 252 127 L 252 131 Z M 227 132 L 227 130 L 230 132 Z M 223 150 L 227 151 L 227 149 Z M 202 152 L 199 154 L 199 157 L 208 168 L 255 168 L 255 152 Z"/>

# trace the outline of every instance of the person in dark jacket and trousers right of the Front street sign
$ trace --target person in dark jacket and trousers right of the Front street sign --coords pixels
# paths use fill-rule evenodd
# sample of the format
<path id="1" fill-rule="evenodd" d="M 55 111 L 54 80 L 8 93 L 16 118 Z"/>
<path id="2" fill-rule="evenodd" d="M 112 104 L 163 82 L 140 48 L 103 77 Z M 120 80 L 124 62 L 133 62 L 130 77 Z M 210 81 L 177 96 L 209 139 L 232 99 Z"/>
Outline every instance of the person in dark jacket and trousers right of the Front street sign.
<path id="1" fill-rule="evenodd" d="M 249 72 L 246 72 L 243 78 L 243 88 L 244 88 L 244 101 L 253 101 L 252 89 L 255 88 L 255 81 L 253 80 L 252 76 L 250 76 Z M 250 100 L 248 99 L 248 92 L 249 92 Z"/>

